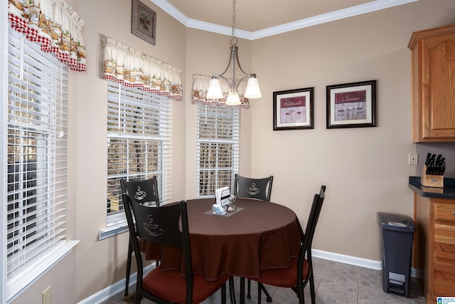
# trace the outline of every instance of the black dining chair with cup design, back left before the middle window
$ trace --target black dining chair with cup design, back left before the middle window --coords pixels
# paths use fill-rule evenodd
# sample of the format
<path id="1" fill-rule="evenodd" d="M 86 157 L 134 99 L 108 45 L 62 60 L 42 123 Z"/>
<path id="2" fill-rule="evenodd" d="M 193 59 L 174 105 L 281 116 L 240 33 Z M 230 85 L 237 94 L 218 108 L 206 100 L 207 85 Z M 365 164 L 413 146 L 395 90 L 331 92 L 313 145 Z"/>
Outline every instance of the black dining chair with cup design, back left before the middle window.
<path id="1" fill-rule="evenodd" d="M 158 179 L 151 177 L 150 179 L 130 179 L 129 182 L 120 183 L 122 194 L 127 194 L 132 201 L 139 204 L 148 204 L 151 206 L 159 206 Z M 141 239 L 138 239 L 141 243 Z M 131 237 L 128 241 L 128 257 L 127 257 L 127 274 L 125 277 L 125 292 L 128 295 L 129 276 L 131 274 L 131 262 L 133 255 L 133 245 Z M 156 261 L 158 263 L 158 261 Z"/>

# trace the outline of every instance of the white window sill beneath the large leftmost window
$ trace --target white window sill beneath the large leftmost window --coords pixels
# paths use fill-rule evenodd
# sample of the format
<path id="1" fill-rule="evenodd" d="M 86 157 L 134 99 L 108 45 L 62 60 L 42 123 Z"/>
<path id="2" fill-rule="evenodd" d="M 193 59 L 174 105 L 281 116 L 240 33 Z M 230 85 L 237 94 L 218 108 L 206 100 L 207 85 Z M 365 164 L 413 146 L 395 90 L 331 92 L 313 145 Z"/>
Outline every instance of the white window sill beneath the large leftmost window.
<path id="1" fill-rule="evenodd" d="M 79 243 L 79 241 L 68 241 L 65 242 L 62 246 L 57 248 L 52 253 L 49 253 L 46 256 L 43 256 L 39 261 L 33 266 L 30 266 L 30 270 L 24 273 L 22 276 L 13 279 L 12 282 L 9 282 L 7 286 L 7 296 L 8 303 L 12 303 L 16 298 L 21 295 L 28 287 L 33 283 L 38 281 L 50 268 L 53 268 L 55 264 L 61 261 L 65 256 L 68 255 L 73 248 Z"/>

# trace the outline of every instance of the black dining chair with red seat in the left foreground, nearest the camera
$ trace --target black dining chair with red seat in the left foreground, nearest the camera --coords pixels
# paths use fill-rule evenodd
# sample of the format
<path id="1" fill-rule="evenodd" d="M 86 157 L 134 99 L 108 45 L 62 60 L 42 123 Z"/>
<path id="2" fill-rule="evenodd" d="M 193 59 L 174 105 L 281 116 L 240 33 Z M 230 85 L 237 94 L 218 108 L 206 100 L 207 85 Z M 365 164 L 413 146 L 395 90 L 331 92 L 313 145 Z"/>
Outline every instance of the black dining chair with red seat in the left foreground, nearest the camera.
<path id="1" fill-rule="evenodd" d="M 125 181 L 122 180 L 122 183 Z M 186 201 L 151 207 L 137 204 L 125 193 L 122 196 L 127 205 L 125 214 L 137 263 L 135 303 L 139 304 L 142 298 L 158 304 L 201 303 L 221 289 L 221 303 L 225 304 L 225 283 L 230 279 L 229 275 L 221 276 L 216 281 L 206 281 L 201 274 L 193 274 Z M 144 276 L 138 238 L 181 248 L 184 275 L 179 270 L 162 271 L 161 266 L 157 266 Z"/>

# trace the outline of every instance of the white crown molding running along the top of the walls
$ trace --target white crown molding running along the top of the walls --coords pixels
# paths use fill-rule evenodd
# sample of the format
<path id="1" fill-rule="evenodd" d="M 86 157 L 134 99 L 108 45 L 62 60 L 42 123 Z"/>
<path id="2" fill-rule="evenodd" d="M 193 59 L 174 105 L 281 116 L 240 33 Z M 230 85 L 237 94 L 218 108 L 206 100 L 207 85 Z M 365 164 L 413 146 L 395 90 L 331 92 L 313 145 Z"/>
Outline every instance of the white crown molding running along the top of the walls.
<path id="1" fill-rule="evenodd" d="M 176 9 L 175 6 L 170 4 L 166 0 L 150 0 L 160 9 L 166 11 L 167 14 L 171 15 L 174 19 L 181 22 L 188 28 L 196 28 L 201 31 L 210 31 L 213 33 L 220 33 L 222 35 L 231 36 L 232 28 L 228 26 L 220 26 L 214 23 L 208 23 L 196 19 L 190 19 L 188 16 L 183 14 L 181 11 Z M 268 36 L 278 35 L 280 33 L 287 33 L 289 31 L 295 31 L 300 28 L 306 28 L 309 26 L 316 26 L 318 24 L 345 19 L 361 14 L 371 13 L 372 11 L 380 11 L 381 9 L 389 9 L 390 7 L 400 6 L 402 4 L 409 4 L 419 0 L 376 0 L 366 4 L 360 4 L 358 6 L 352 6 L 348 9 L 340 9 L 338 11 L 332 11 L 327 14 L 321 14 L 318 16 L 312 16 L 306 19 L 293 21 L 289 23 L 280 24 L 279 26 L 272 26 L 270 28 L 264 28 L 259 31 L 243 31 L 235 28 L 235 36 L 237 38 L 244 38 L 248 40 L 255 40 L 259 38 L 265 38 Z"/>

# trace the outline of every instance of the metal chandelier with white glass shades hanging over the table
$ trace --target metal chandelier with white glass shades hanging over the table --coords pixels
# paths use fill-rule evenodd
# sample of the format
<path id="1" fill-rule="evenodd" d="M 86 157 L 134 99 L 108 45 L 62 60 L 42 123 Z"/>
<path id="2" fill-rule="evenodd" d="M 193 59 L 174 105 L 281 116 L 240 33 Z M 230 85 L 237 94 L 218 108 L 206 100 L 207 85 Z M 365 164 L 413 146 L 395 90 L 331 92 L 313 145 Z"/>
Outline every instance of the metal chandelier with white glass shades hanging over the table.
<path id="1" fill-rule="evenodd" d="M 235 37 L 235 0 L 232 1 L 232 38 L 230 39 L 230 58 L 228 66 L 220 75 L 212 75 L 210 83 L 208 85 L 207 98 L 209 99 L 220 99 L 223 98 L 223 92 L 220 86 L 220 79 L 223 79 L 229 85 L 228 98 L 226 99 L 226 105 L 240 105 L 240 98 L 238 94 L 239 84 L 248 78 L 247 88 L 245 90 L 245 98 L 261 98 L 261 90 L 259 90 L 259 82 L 257 81 L 256 74 L 248 74 L 242 69 L 242 66 L 239 62 L 239 57 L 237 54 L 237 37 Z M 223 76 L 228 72 L 230 65 L 232 63 L 232 78 L 226 78 Z M 235 70 L 236 65 L 243 73 L 242 77 L 236 81 L 235 80 Z"/>

